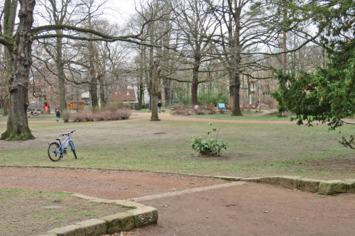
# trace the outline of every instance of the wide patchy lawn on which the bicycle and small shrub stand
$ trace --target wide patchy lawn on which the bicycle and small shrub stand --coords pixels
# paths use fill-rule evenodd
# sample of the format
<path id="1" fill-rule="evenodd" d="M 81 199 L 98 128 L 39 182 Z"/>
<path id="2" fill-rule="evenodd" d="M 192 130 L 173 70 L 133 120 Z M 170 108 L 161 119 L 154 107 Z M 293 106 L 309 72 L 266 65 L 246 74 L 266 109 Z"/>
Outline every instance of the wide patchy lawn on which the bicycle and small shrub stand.
<path id="1" fill-rule="evenodd" d="M 5 127 L 0 124 L 0 132 Z M 307 128 L 295 123 L 218 123 L 216 120 L 212 127 L 221 128 L 218 137 L 228 143 L 220 157 L 200 157 L 190 147 L 190 139 L 198 135 L 206 137 L 211 130 L 203 119 L 201 122 L 129 119 L 30 123 L 36 139 L 16 144 L 1 140 L 0 160 L 3 165 L 102 167 L 242 177 L 300 175 L 349 179 L 355 176 L 355 152 L 338 142 L 342 135 L 354 133 L 351 125 L 328 132 L 327 125 Z M 48 142 L 71 130 L 77 130 L 72 138 L 78 159 L 69 152 L 59 162 L 51 162 Z"/>

